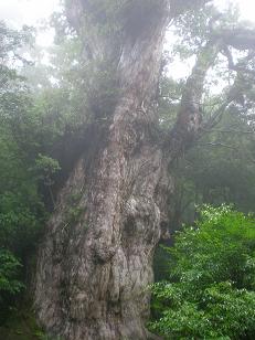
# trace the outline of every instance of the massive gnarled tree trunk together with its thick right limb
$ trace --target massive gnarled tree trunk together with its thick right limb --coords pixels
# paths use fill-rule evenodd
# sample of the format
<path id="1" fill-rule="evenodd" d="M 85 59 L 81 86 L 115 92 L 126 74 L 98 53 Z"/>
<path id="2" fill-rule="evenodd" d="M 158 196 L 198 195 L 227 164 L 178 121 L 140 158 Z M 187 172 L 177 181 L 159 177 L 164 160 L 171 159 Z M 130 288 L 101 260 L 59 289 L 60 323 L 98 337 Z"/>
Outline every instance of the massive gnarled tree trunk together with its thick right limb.
<path id="1" fill-rule="evenodd" d="M 222 44 L 236 42 L 240 47 L 240 38 L 225 32 L 202 49 L 177 123 L 160 146 L 153 100 L 164 30 L 172 13 L 208 1 L 126 1 L 131 6 L 115 17 L 121 34 L 114 36 L 95 25 L 100 21 L 104 31 L 110 28 L 103 4 L 111 2 L 68 1 L 70 21 L 84 36 L 93 73 L 110 64 L 118 97 L 110 100 L 110 110 L 105 107 L 107 123 L 91 128 L 89 142 L 59 195 L 39 255 L 38 317 L 50 333 L 66 340 L 149 338 L 146 288 L 153 278 L 153 252 L 166 225 L 172 187 L 168 166 L 199 135 L 204 78 Z M 246 44 L 254 47 L 251 34 L 241 49 Z M 95 116 L 105 118 L 104 105 L 92 104 Z"/>

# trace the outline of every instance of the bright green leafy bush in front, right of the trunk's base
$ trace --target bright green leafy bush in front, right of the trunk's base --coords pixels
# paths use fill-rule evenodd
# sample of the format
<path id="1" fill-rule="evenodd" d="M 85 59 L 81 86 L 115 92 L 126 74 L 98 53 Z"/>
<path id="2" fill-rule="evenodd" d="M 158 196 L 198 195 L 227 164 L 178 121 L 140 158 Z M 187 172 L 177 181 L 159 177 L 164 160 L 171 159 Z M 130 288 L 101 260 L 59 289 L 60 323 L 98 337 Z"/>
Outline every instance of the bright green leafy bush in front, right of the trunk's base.
<path id="1" fill-rule="evenodd" d="M 169 277 L 152 287 L 150 330 L 166 339 L 253 339 L 254 216 L 204 206 L 167 252 Z"/>

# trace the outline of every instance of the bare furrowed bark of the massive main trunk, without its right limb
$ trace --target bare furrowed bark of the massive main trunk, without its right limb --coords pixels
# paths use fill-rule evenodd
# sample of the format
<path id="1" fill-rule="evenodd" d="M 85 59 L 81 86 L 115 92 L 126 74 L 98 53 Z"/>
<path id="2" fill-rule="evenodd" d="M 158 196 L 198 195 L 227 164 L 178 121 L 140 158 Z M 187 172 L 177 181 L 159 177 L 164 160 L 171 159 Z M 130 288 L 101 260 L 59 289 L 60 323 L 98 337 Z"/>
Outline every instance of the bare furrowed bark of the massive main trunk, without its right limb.
<path id="1" fill-rule="evenodd" d="M 76 2 L 72 13 L 87 2 Z M 158 3 L 167 13 L 168 2 Z M 127 33 L 118 49 L 120 95 L 110 124 L 95 128 L 41 246 L 35 307 L 46 330 L 64 339 L 148 338 L 146 288 L 153 278 L 170 189 L 151 108 L 167 25 L 163 11 L 137 36 Z M 100 38 L 93 43 L 93 55 L 110 60 Z"/>

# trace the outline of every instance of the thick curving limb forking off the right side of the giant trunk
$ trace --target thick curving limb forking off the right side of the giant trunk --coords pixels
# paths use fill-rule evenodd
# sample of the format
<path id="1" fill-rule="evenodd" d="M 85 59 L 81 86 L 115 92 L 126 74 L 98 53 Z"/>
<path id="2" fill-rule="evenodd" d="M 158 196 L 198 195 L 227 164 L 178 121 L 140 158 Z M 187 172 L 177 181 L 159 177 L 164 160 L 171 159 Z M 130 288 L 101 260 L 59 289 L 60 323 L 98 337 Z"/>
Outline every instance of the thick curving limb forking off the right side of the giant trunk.
<path id="1" fill-rule="evenodd" d="M 195 66 L 187 81 L 177 123 L 167 138 L 166 144 L 168 150 L 170 150 L 170 161 L 178 157 L 185 148 L 191 147 L 195 140 L 203 136 L 204 131 L 217 125 L 229 105 L 234 100 L 242 100 L 244 91 L 249 89 L 254 83 L 253 75 L 255 71 L 247 67 L 248 62 L 254 59 L 255 54 L 254 30 L 243 28 L 225 29 L 221 33 L 212 34 L 212 40 L 202 49 Z M 234 64 L 229 46 L 238 50 L 249 50 L 249 52 Z M 213 117 L 202 125 L 202 110 L 199 103 L 203 94 L 204 79 L 220 51 L 223 51 L 227 57 L 229 67 L 236 71 L 237 74 L 234 85 L 231 86 L 226 94 L 225 102 L 216 109 Z"/>

